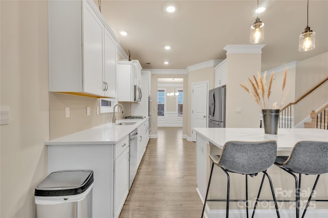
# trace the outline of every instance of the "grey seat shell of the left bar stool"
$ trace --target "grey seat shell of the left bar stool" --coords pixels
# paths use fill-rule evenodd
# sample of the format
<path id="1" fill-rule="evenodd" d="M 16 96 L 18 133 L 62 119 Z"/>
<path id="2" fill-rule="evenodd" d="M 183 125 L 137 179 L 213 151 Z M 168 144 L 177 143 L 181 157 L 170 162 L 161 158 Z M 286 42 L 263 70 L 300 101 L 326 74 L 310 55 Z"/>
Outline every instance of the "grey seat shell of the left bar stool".
<path id="1" fill-rule="evenodd" d="M 268 169 L 276 160 L 277 142 L 228 141 L 222 148 L 218 166 L 241 174 L 254 174 Z"/>

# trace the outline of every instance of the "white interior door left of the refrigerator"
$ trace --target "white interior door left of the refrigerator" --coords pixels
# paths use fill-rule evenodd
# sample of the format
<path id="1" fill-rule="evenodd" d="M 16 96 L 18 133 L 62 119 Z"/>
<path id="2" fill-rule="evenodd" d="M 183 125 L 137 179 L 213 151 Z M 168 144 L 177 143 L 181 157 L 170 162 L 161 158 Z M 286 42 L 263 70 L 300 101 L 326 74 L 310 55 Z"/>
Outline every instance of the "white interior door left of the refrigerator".
<path id="1" fill-rule="evenodd" d="M 208 82 L 192 84 L 192 129 L 207 127 Z M 196 133 L 192 130 L 192 140 L 196 141 Z"/>

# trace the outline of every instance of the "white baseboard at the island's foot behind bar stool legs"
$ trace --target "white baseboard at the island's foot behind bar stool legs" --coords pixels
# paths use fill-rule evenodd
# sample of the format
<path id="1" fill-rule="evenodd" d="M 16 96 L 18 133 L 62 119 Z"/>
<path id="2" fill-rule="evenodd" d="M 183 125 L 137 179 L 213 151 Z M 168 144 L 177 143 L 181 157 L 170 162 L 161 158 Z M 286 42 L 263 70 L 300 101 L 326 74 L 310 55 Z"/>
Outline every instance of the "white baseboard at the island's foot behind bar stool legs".
<path id="1" fill-rule="evenodd" d="M 205 210 L 206 212 L 206 210 Z M 249 209 L 249 214 L 252 214 L 253 209 Z M 281 217 L 284 218 L 294 218 L 295 217 L 295 209 L 285 209 L 279 210 L 279 214 Z M 303 214 L 303 210 L 300 210 L 300 215 Z M 327 218 L 328 209 L 314 209 L 314 210 L 307 210 L 306 211 L 306 218 Z M 209 218 L 214 217 L 225 217 L 226 210 L 210 210 Z M 246 217 L 246 210 L 229 210 L 229 217 L 231 218 L 243 218 Z M 255 218 L 276 218 L 277 214 L 274 209 L 272 210 L 259 210 L 256 209 L 255 211 Z"/>

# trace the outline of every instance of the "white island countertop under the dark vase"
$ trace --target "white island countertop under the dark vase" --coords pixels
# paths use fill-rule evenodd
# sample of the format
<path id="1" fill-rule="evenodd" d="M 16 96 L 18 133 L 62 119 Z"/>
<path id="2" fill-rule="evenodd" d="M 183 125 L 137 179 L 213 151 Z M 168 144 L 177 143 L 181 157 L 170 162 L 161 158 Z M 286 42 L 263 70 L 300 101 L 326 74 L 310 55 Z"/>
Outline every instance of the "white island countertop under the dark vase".
<path id="1" fill-rule="evenodd" d="M 328 130 L 315 128 L 279 128 L 277 135 L 264 134 L 264 128 L 194 128 L 194 130 L 219 148 L 223 148 L 227 141 L 276 140 L 277 150 L 292 150 L 298 141 L 328 141 Z"/>

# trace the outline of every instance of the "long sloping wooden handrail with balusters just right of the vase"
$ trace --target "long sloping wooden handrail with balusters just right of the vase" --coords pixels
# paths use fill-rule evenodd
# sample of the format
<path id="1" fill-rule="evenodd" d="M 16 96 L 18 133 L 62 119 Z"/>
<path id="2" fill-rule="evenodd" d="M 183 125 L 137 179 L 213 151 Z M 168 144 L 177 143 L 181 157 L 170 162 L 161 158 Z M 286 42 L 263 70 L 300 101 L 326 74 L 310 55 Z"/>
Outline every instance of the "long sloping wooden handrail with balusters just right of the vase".
<path id="1" fill-rule="evenodd" d="M 316 84 L 312 89 L 310 89 L 308 92 L 304 93 L 301 97 L 299 97 L 296 101 L 291 102 L 287 104 L 286 106 L 282 107 L 280 109 L 280 116 L 279 116 L 279 128 L 292 128 L 292 105 L 297 104 L 299 101 L 301 101 L 303 98 L 308 96 L 310 93 L 315 91 L 317 88 L 319 88 L 320 85 L 328 81 L 328 77 L 323 79 L 321 82 Z M 326 112 L 327 113 L 327 112 Z"/>

